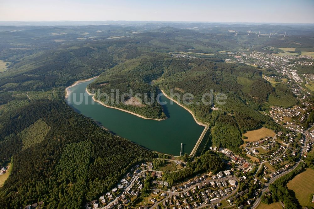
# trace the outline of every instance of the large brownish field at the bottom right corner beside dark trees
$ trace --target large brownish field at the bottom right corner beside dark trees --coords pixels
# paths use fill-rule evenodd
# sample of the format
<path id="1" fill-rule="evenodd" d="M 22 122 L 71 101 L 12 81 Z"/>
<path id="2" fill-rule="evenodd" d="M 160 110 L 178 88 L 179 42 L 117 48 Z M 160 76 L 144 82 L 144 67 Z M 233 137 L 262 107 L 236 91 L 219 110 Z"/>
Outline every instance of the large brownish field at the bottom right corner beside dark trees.
<path id="1" fill-rule="evenodd" d="M 310 195 L 314 193 L 313 176 L 314 170 L 308 168 L 287 184 L 287 187 L 295 192 L 295 197 L 302 207 L 314 207 L 314 203 L 310 201 Z"/>

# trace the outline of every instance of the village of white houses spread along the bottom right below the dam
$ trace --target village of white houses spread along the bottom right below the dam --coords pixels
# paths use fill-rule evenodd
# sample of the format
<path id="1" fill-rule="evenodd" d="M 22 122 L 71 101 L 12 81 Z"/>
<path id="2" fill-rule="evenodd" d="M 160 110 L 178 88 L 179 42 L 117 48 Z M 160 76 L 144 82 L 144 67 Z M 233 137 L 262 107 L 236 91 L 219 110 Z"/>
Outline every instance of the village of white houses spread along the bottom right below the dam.
<path id="1" fill-rule="evenodd" d="M 308 135 L 309 139 L 314 139 L 312 133 Z M 298 138 L 300 140 L 297 140 Z M 259 141 L 246 143 L 244 150 L 259 159 L 260 163 L 252 162 L 225 148 L 210 147 L 213 152 L 222 153 L 229 159 L 225 162 L 228 169 L 217 174 L 198 174 L 176 185 L 164 181 L 164 172 L 154 170 L 153 162 L 138 164 L 115 188 L 99 199 L 87 203 L 86 208 L 221 208 L 233 206 L 235 202 L 240 203 L 239 208 L 250 206 L 262 191 L 264 184 L 295 166 L 302 148 L 301 140 L 303 137 L 298 137 L 295 131 L 285 136 L 280 131 L 275 137 L 267 136 Z M 309 152 L 312 146 L 313 142 L 309 141 L 304 148 Z M 258 148 L 269 152 L 262 154 Z M 181 164 L 182 168 L 185 166 L 180 160 L 174 162 L 176 165 Z M 150 192 L 149 195 L 143 196 L 145 184 L 149 184 Z M 247 184 L 255 188 L 250 190 L 250 194 L 248 188 L 239 187 Z"/>

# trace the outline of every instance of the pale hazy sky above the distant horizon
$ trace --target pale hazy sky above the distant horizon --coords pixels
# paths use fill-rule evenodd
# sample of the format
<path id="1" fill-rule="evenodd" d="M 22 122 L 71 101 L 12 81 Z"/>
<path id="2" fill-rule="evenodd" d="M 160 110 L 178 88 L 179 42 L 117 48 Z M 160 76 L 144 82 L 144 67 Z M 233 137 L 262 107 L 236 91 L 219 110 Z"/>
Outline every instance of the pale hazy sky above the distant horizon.
<path id="1" fill-rule="evenodd" d="M 314 0 L 0 0 L 0 21 L 314 23 Z"/>

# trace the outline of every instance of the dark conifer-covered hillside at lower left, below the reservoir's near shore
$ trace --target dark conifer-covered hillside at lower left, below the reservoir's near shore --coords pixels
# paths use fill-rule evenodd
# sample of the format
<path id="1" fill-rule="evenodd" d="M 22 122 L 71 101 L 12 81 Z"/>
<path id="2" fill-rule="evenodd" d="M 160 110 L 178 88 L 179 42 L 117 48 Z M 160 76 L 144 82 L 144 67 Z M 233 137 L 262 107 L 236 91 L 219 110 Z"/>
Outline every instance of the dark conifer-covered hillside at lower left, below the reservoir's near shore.
<path id="1" fill-rule="evenodd" d="M 34 101 L 0 121 L 0 158 L 13 156 L 14 165 L 0 190 L 3 208 L 42 200 L 47 208 L 79 208 L 111 189 L 129 166 L 154 157 L 60 102 Z M 42 134 L 41 129 L 27 133 L 38 121 L 51 128 L 30 146 L 24 138 Z"/>

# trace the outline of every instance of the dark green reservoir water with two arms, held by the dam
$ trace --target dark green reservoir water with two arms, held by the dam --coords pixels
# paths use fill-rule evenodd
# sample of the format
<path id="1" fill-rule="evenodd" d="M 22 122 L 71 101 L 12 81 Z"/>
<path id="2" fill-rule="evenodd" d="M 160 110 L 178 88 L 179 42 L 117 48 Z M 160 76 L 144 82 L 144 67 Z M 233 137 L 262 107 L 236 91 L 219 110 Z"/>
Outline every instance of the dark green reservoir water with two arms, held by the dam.
<path id="1" fill-rule="evenodd" d="M 180 155 L 183 143 L 183 153 L 189 155 L 204 130 L 187 110 L 176 103 L 170 104 L 170 99 L 165 96 L 161 96 L 160 101 L 167 102 L 163 108 L 169 118 L 163 121 L 143 119 L 121 110 L 107 108 L 97 102 L 92 104 L 92 96 L 85 93 L 85 88 L 91 82 L 87 81 L 70 88 L 69 105 L 77 112 L 98 121 L 116 135 L 150 150 Z M 81 93 L 84 95 L 80 96 Z M 76 105 L 74 99 L 78 103 L 80 97 L 83 102 Z"/>

